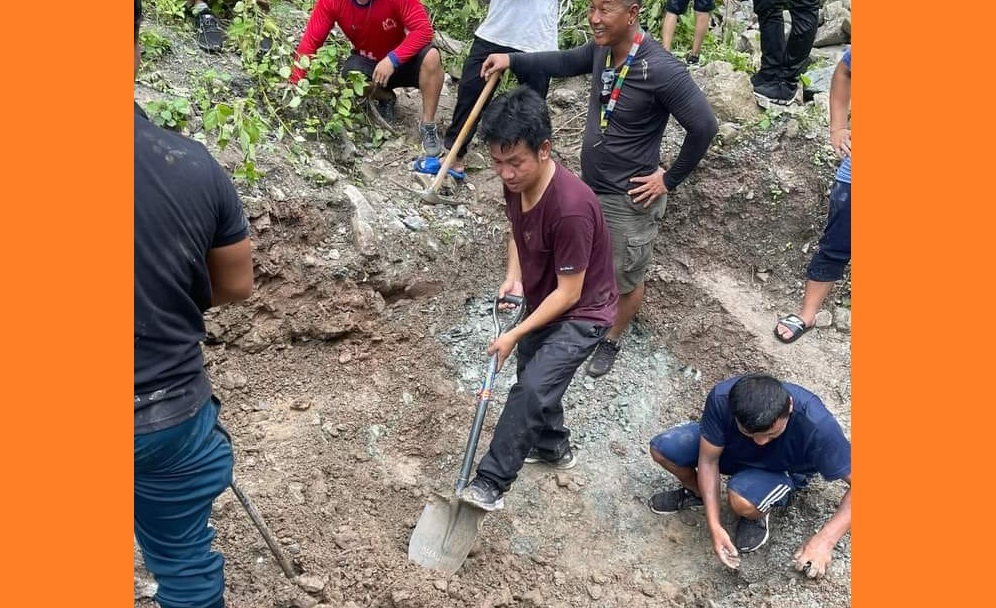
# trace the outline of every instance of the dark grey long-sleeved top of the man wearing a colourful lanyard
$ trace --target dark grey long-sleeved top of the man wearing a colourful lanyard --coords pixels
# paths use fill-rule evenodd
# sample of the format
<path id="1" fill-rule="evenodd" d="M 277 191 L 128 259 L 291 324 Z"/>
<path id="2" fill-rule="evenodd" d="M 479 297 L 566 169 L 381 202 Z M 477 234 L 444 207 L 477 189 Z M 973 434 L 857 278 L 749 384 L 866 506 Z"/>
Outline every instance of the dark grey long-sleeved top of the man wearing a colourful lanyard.
<path id="1" fill-rule="evenodd" d="M 673 115 L 687 131 L 664 177 L 665 186 L 673 190 L 699 164 L 716 135 L 712 107 L 685 65 L 659 42 L 644 36 L 603 134 L 599 125 L 602 72 L 608 53 L 607 47 L 589 42 L 567 51 L 513 53 L 510 57 L 517 70 L 537 70 L 551 77 L 592 75 L 581 173 L 596 194 L 625 195 L 637 185 L 630 178 L 657 170 L 664 128 Z M 614 78 L 606 82 L 611 91 Z"/>

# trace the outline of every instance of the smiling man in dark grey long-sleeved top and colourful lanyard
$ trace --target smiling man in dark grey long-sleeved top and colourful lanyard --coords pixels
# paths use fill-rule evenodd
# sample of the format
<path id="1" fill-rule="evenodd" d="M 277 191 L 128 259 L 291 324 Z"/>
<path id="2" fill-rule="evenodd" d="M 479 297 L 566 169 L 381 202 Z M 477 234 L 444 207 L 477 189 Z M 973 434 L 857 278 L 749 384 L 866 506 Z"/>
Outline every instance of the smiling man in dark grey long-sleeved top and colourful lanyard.
<path id="1" fill-rule="evenodd" d="M 567 51 L 491 55 L 481 69 L 483 78 L 513 66 L 550 77 L 592 75 L 581 177 L 601 201 L 619 286 L 616 321 L 588 363 L 594 377 L 612 369 L 619 337 L 643 302 L 667 194 L 702 160 L 718 128 L 684 64 L 643 31 L 639 13 L 640 0 L 592 0 L 592 42 Z M 660 148 L 670 116 L 687 135 L 665 170 Z"/>

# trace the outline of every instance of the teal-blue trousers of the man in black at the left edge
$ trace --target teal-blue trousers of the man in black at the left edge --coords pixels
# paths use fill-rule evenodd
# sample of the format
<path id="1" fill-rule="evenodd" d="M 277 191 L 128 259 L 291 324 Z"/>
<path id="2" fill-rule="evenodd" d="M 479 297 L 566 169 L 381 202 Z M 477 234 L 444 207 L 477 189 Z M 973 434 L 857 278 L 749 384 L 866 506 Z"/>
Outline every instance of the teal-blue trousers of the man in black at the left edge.
<path id="1" fill-rule="evenodd" d="M 232 447 L 212 397 L 192 418 L 135 435 L 135 536 L 162 608 L 224 608 L 211 503 L 232 483 Z"/>

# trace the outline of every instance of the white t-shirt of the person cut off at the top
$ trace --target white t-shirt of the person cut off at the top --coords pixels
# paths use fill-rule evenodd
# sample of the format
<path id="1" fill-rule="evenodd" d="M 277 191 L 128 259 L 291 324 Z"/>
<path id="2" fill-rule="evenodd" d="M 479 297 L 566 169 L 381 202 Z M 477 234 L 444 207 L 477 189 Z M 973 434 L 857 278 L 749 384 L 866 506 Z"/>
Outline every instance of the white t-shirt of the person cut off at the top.
<path id="1" fill-rule="evenodd" d="M 558 0 L 491 0 L 474 34 L 520 51 L 556 51 Z"/>

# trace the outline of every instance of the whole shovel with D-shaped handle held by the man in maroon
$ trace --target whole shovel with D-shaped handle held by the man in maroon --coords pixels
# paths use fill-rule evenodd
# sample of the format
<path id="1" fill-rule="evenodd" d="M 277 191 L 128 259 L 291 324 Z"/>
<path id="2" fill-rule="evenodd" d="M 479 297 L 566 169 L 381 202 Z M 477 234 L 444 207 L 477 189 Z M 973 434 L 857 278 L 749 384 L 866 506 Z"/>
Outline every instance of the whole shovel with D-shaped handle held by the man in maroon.
<path id="1" fill-rule="evenodd" d="M 515 316 L 502 327 L 498 322 L 499 304 L 516 305 Z M 504 296 L 495 300 L 491 309 L 494 321 L 495 339 L 515 327 L 525 310 L 525 301 L 517 296 Z M 481 428 L 484 426 L 484 416 L 491 403 L 492 389 L 495 377 L 498 375 L 498 354 L 491 356 L 488 372 L 484 376 L 481 392 L 477 395 L 477 411 L 474 413 L 474 423 L 470 427 L 467 438 L 467 449 L 463 455 L 463 466 L 457 477 L 453 496 L 434 492 L 429 497 L 429 503 L 422 510 L 415 531 L 408 542 L 408 559 L 433 568 L 446 574 L 453 574 L 460 569 L 467 559 L 477 533 L 484 522 L 487 511 L 460 500 L 460 493 L 467 487 L 470 469 L 474 464 L 474 454 L 477 452 L 477 442 L 481 438 Z"/>

